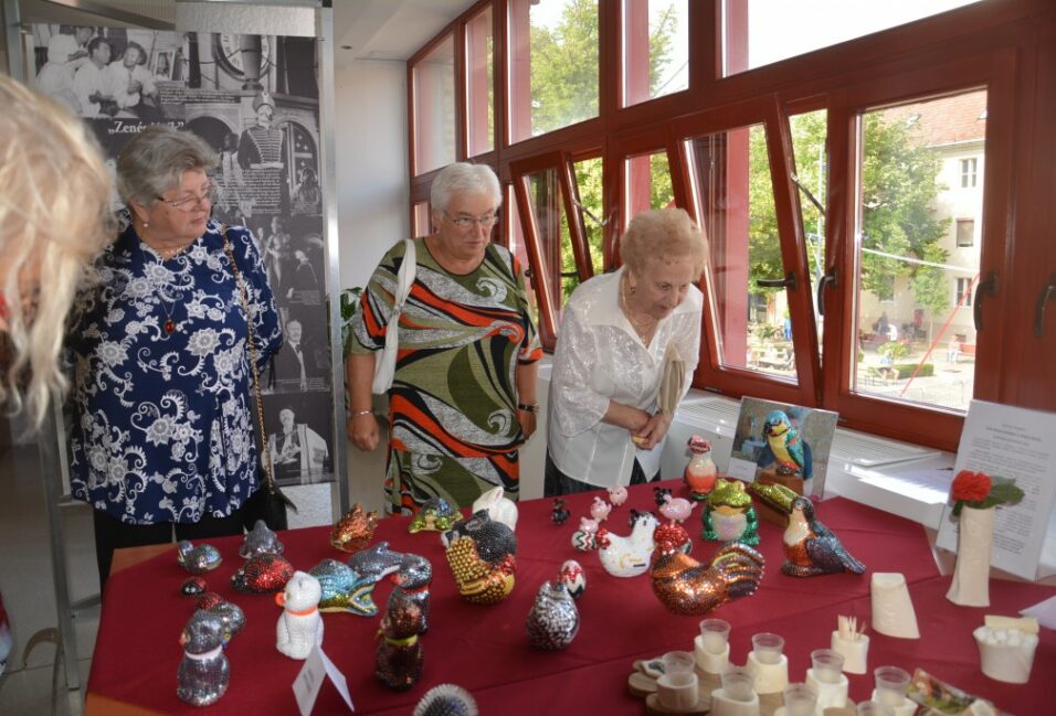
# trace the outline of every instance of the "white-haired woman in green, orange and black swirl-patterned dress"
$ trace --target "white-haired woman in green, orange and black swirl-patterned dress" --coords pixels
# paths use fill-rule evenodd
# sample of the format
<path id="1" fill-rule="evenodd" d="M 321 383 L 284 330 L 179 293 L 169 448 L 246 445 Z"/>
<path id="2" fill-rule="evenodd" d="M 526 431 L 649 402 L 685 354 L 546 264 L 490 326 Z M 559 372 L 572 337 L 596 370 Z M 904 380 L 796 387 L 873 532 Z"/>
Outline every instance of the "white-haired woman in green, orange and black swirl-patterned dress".
<path id="1" fill-rule="evenodd" d="M 516 500 L 518 446 L 536 429 L 542 351 L 517 259 L 493 244 L 501 190 L 486 165 L 446 167 L 430 188 L 434 233 L 415 243 L 415 277 L 400 317 L 389 389 L 387 507 L 413 513 L 430 498 L 468 506 L 501 485 Z M 378 447 L 371 413 L 376 352 L 384 345 L 404 244 L 374 269 L 352 318 L 349 439 Z"/>

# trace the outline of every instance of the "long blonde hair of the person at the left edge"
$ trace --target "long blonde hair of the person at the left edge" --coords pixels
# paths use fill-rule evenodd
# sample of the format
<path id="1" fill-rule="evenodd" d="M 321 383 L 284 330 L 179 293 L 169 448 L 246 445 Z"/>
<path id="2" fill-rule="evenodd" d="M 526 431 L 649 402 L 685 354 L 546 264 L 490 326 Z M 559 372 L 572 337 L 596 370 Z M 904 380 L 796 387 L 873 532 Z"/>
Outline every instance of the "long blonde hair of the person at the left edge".
<path id="1" fill-rule="evenodd" d="M 110 180 L 86 125 L 0 75 L 0 405 L 39 426 L 59 366 L 66 313 L 115 238 Z"/>

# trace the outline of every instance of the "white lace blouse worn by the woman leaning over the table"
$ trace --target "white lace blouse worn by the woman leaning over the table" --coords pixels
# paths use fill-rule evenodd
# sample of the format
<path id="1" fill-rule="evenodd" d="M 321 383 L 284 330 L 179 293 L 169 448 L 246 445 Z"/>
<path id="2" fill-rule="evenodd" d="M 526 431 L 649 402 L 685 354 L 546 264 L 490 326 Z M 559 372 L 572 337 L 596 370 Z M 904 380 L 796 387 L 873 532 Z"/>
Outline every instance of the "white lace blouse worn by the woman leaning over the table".
<path id="1" fill-rule="evenodd" d="M 622 276 L 622 268 L 595 276 L 572 293 L 564 306 L 550 380 L 550 458 L 568 477 L 600 488 L 627 484 L 635 457 L 652 477 L 664 448 L 661 444 L 637 450 L 626 429 L 602 423 L 609 400 L 654 412 L 670 342 L 686 362 L 685 396 L 700 351 L 704 298 L 695 286 L 659 322 L 646 348 L 620 310 Z"/>

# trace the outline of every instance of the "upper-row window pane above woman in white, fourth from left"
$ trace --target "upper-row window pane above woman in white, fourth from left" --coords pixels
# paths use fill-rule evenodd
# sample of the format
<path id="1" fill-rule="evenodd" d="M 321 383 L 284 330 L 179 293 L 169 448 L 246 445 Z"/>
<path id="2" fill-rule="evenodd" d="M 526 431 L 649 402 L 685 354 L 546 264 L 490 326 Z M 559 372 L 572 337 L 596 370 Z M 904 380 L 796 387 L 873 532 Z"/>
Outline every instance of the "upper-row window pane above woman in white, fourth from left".
<path id="1" fill-rule="evenodd" d="M 624 0 L 625 107 L 689 87 L 688 6 L 688 0 Z"/>

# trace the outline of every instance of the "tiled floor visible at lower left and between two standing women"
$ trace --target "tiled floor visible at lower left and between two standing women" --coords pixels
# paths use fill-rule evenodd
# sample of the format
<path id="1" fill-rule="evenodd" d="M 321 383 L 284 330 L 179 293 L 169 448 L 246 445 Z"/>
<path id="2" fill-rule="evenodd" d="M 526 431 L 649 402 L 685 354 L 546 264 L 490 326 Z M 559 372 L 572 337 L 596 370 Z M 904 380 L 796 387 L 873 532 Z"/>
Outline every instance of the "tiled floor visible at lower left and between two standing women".
<path id="1" fill-rule="evenodd" d="M 351 501 L 367 510 L 380 510 L 383 447 L 367 455 L 350 448 L 350 463 Z M 54 708 L 61 716 L 78 716 L 95 648 L 99 607 L 96 601 L 74 612 L 82 690 L 71 691 L 66 687 L 65 670 L 60 669 L 55 674 L 59 646 L 49 641 L 57 633 L 57 617 L 50 527 L 35 446 L 13 447 L 0 455 L 0 592 L 14 634 L 14 650 L 0 676 L 0 714 L 35 716 L 52 713 Z M 65 532 L 70 596 L 76 603 L 98 592 L 92 513 L 87 505 L 80 503 L 63 506 L 60 513 Z M 23 666 L 25 646 L 34 634 L 38 637 Z M 57 678 L 54 702 L 53 674 Z"/>

